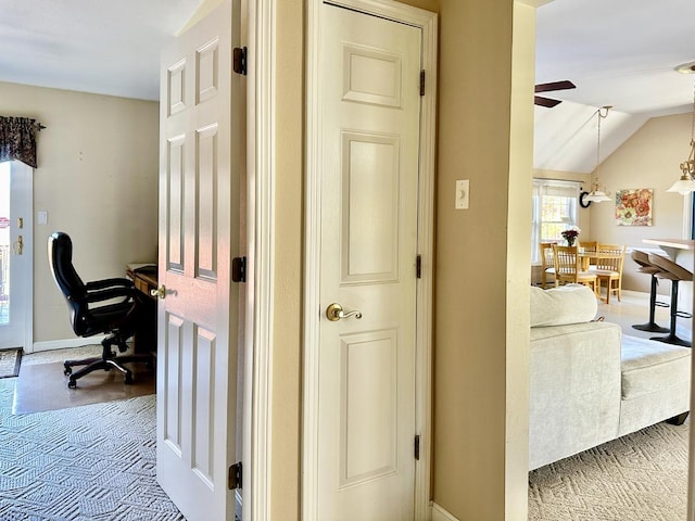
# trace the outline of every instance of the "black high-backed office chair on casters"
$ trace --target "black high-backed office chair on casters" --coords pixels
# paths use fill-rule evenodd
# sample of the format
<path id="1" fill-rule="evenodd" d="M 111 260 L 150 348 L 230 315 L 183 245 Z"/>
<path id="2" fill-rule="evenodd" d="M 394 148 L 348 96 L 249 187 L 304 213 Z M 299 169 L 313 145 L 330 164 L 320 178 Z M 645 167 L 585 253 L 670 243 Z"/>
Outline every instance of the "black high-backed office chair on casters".
<path id="1" fill-rule="evenodd" d="M 108 333 L 101 345 L 101 357 L 84 360 L 66 360 L 65 374 L 68 387 L 77 386 L 77 379 L 97 369 L 117 369 L 125 374 L 125 383 L 132 383 L 132 371 L 123 364 L 142 361 L 152 369 L 152 355 L 134 354 L 116 356 L 111 350 L 117 345 L 121 353 L 127 351 L 126 341 L 151 325 L 148 313 L 151 304 L 147 296 L 135 289 L 130 279 L 113 278 L 84 283 L 73 267 L 73 242 L 61 231 L 48 240 L 48 258 L 53 280 L 70 307 L 71 323 L 78 336 Z M 73 373 L 74 366 L 86 366 Z"/>

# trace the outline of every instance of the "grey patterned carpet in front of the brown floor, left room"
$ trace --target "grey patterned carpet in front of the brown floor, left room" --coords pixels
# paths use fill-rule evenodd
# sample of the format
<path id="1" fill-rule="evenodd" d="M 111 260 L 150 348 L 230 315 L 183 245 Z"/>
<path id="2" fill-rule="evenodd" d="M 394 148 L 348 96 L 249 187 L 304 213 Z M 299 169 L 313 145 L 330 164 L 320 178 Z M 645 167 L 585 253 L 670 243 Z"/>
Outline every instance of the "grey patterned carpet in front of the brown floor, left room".
<path id="1" fill-rule="evenodd" d="M 155 479 L 156 398 L 0 416 L 2 521 L 186 521 Z"/>

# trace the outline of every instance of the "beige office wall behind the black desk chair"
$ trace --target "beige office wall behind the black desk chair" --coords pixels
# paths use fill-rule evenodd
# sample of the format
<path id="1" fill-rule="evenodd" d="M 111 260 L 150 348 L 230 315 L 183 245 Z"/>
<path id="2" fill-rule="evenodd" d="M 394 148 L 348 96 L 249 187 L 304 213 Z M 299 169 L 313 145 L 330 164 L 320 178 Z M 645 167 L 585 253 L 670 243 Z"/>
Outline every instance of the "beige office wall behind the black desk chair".
<path id="1" fill-rule="evenodd" d="M 34 341 L 75 339 L 51 278 L 48 236 L 71 234 L 84 280 L 122 277 L 129 262 L 156 258 L 159 104 L 0 82 L 0 114 L 34 117 Z"/>

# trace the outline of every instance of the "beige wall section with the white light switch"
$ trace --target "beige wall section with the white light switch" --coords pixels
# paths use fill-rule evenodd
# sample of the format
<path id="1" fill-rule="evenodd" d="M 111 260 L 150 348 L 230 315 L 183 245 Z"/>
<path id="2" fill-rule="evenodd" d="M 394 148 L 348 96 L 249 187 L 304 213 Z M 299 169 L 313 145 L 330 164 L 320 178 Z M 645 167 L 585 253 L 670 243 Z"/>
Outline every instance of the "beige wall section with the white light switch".
<path id="1" fill-rule="evenodd" d="M 509 100 L 520 81 L 532 111 L 533 62 L 513 76 L 513 26 L 528 62 L 533 16 L 514 2 L 440 3 L 433 499 L 460 520 L 526 519 L 529 270 L 508 263 L 530 255 L 532 113 Z M 460 178 L 465 212 L 451 204 Z"/>

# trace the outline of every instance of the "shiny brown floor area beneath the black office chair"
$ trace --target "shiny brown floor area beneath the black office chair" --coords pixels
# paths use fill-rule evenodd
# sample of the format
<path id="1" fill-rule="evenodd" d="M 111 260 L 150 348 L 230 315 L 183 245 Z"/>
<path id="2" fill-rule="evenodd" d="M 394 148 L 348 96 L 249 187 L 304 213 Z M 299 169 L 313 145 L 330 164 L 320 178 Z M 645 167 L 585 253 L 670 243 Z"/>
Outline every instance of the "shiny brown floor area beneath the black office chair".
<path id="1" fill-rule="evenodd" d="M 16 381 L 12 414 L 25 415 L 154 394 L 154 371 L 148 370 L 144 364 L 130 364 L 128 367 L 132 370 L 131 384 L 124 383 L 119 371 L 99 370 L 77 380 L 76 389 L 68 389 L 63 363 L 25 365 Z"/>

